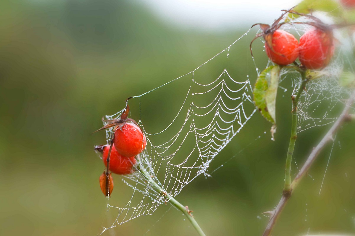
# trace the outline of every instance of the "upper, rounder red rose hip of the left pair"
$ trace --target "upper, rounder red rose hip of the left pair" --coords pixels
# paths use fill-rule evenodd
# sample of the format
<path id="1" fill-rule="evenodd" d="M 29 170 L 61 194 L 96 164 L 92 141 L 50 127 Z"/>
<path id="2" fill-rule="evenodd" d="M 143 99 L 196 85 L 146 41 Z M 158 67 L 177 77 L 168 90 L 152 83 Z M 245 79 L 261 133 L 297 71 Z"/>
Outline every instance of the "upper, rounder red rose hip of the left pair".
<path id="1" fill-rule="evenodd" d="M 147 145 L 147 140 L 145 136 L 143 138 L 142 130 L 132 123 L 125 123 L 122 130 L 120 128 L 116 129 L 113 142 L 116 150 L 125 157 L 136 156 Z"/>

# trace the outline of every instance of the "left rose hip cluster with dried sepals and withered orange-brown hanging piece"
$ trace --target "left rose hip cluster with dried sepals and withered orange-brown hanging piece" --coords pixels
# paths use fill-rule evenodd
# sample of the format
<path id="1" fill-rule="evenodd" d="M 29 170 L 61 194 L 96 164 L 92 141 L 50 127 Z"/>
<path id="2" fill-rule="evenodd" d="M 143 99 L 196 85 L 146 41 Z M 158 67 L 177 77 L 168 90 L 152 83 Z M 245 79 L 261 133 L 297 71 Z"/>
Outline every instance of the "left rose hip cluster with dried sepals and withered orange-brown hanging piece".
<path id="1" fill-rule="evenodd" d="M 127 103 L 128 99 L 126 100 Z M 102 159 L 106 170 L 100 176 L 100 187 L 105 196 L 110 196 L 113 190 L 112 173 L 119 175 L 131 174 L 135 171 L 136 156 L 146 148 L 147 140 L 137 122 L 128 118 L 129 106 L 120 119 L 105 120 L 108 122 L 99 130 L 114 127 L 110 145 L 95 146 L 95 150 L 102 152 Z M 98 131 L 98 130 L 97 130 Z"/>

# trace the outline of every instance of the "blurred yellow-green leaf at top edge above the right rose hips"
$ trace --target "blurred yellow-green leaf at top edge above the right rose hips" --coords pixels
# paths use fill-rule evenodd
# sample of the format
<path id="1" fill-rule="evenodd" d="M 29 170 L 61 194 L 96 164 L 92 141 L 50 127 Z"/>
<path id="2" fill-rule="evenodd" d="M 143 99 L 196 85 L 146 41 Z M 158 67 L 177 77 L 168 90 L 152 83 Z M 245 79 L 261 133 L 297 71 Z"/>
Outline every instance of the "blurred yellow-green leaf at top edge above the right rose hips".
<path id="1" fill-rule="evenodd" d="M 323 11 L 328 12 L 331 16 L 343 16 L 343 7 L 335 0 L 303 0 L 293 10 L 305 14 L 313 11 Z M 299 17 L 299 15 L 289 13 L 288 17 L 293 19 Z"/>

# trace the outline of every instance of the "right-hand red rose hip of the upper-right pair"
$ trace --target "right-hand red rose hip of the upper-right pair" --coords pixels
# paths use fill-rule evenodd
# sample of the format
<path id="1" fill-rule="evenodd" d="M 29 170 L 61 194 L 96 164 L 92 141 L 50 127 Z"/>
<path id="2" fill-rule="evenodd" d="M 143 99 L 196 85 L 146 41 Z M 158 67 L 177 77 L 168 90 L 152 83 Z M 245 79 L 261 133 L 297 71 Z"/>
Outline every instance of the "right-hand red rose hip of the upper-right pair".
<path id="1" fill-rule="evenodd" d="M 334 54 L 333 34 L 320 29 L 308 30 L 300 38 L 299 59 L 307 69 L 327 66 Z"/>

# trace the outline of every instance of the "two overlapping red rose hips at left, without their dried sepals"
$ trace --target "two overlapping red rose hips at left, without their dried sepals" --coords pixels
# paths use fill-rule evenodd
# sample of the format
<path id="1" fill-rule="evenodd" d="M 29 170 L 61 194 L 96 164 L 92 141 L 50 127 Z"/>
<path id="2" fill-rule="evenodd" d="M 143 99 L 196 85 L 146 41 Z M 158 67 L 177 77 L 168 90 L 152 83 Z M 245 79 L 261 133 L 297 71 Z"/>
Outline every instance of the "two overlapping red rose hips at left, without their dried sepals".
<path id="1" fill-rule="evenodd" d="M 146 145 L 146 137 L 136 124 L 125 123 L 121 128 L 117 128 L 110 154 L 110 171 L 119 175 L 133 173 L 133 166 L 137 163 L 135 156 L 141 153 Z M 102 159 L 106 167 L 109 150 L 110 145 L 105 145 L 102 149 Z"/>

